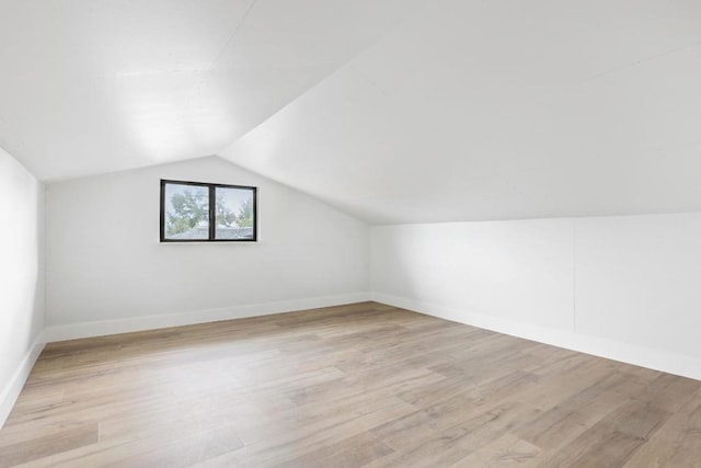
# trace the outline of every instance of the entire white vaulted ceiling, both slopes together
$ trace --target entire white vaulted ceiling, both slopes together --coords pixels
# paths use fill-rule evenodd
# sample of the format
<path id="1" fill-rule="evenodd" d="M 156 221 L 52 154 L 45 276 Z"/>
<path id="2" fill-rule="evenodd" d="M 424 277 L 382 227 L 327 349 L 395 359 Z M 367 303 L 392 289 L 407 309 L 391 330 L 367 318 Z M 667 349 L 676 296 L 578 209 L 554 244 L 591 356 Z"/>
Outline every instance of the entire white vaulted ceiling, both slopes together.
<path id="1" fill-rule="evenodd" d="M 44 180 L 219 155 L 371 222 L 701 209 L 698 0 L 0 0 Z"/>

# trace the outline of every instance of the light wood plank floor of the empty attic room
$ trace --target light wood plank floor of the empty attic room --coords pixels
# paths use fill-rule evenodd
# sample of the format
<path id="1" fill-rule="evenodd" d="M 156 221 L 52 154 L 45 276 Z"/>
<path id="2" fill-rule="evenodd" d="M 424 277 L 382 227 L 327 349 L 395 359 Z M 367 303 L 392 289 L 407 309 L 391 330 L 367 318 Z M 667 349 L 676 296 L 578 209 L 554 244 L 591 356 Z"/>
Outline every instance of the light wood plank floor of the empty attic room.
<path id="1" fill-rule="evenodd" d="M 367 303 L 50 344 L 15 465 L 699 467 L 701 383 Z"/>

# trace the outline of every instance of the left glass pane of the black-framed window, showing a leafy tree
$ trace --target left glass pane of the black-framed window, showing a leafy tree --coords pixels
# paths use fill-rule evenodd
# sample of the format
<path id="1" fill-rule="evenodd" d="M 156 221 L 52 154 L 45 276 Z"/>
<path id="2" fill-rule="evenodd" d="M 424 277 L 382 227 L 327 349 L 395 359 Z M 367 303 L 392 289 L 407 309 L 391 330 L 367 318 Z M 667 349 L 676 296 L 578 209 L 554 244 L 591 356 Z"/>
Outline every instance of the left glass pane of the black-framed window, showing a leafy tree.
<path id="1" fill-rule="evenodd" d="M 165 239 L 209 239 L 209 187 L 165 184 Z"/>

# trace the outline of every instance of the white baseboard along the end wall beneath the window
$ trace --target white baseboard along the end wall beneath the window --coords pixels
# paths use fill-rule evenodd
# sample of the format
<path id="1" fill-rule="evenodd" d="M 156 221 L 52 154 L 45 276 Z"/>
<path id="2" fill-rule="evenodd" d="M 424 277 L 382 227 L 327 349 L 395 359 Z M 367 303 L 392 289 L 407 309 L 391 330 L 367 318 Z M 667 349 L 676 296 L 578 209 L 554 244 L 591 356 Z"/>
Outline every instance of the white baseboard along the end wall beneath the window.
<path id="1" fill-rule="evenodd" d="M 51 326 L 46 329 L 46 341 L 76 340 L 80 338 L 103 336 L 117 333 L 154 330 L 169 327 L 208 323 L 221 320 L 243 319 L 246 317 L 268 316 L 295 310 L 319 307 L 343 306 L 370 300 L 370 293 L 352 293 L 337 296 L 292 299 L 275 303 L 254 304 L 219 309 L 195 310 L 191 312 L 131 317 L 127 319 L 103 320 L 94 322 Z"/>

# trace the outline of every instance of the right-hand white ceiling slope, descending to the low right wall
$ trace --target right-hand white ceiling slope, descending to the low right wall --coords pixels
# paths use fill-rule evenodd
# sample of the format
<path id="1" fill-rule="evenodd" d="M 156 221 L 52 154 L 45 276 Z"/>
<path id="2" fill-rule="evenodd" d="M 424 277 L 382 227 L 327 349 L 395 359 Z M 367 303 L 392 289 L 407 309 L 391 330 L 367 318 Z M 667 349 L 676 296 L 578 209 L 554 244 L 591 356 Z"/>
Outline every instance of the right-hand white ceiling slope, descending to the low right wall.
<path id="1" fill-rule="evenodd" d="M 221 155 L 372 222 L 701 209 L 701 2 L 430 7 Z"/>

